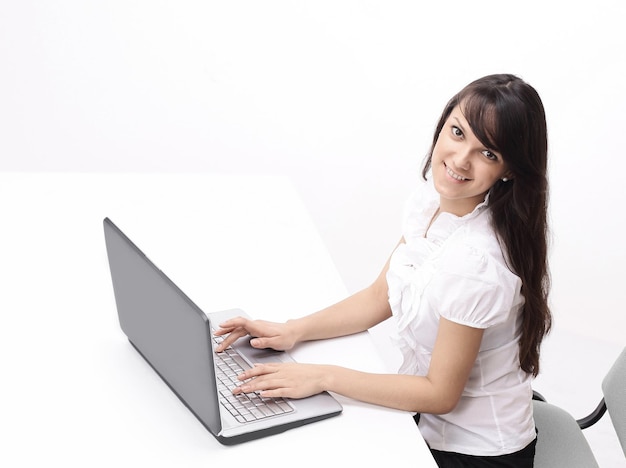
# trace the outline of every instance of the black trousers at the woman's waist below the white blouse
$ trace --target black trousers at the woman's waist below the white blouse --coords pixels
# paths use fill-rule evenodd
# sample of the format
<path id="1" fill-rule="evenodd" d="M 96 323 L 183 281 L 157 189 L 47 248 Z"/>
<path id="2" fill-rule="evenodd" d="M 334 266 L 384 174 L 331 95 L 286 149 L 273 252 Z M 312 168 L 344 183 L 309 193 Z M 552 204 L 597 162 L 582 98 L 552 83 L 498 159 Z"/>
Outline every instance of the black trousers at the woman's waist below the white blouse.
<path id="1" fill-rule="evenodd" d="M 414 417 L 419 422 L 419 414 Z M 522 450 L 506 455 L 483 457 L 430 449 L 439 468 L 533 468 L 537 439 Z"/>

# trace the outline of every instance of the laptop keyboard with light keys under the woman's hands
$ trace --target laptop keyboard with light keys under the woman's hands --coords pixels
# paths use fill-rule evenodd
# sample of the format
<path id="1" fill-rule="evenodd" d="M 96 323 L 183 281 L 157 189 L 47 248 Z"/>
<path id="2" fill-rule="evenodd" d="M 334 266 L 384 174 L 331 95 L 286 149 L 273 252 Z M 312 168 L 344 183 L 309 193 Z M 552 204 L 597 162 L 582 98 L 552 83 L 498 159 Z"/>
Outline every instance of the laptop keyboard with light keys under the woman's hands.
<path id="1" fill-rule="evenodd" d="M 220 343 L 223 338 L 213 335 L 213 341 Z M 215 353 L 215 356 L 220 403 L 237 421 L 241 423 L 257 421 L 293 411 L 293 407 L 284 398 L 264 398 L 255 392 L 233 395 L 233 389 L 243 383 L 237 380 L 237 376 L 250 366 L 231 347 L 221 353 Z"/>

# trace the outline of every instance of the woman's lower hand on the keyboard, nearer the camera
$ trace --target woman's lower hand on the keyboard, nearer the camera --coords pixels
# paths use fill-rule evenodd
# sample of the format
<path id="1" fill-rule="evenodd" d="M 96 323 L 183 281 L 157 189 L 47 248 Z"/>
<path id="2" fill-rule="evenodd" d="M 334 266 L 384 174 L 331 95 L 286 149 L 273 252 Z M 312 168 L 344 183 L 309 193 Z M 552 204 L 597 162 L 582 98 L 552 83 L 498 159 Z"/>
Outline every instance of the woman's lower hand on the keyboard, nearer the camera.
<path id="1" fill-rule="evenodd" d="M 326 390 L 328 366 L 300 363 L 255 364 L 239 375 L 234 394 L 258 392 L 263 397 L 305 398 Z"/>

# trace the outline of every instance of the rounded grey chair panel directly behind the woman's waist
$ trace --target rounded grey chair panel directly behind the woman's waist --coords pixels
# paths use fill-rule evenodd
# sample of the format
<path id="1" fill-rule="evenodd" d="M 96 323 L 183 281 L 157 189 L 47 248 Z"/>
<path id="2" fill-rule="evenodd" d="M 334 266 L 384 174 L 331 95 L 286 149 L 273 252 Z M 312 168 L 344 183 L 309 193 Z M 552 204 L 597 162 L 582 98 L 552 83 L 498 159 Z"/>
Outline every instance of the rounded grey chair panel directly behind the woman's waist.
<path id="1" fill-rule="evenodd" d="M 533 401 L 537 448 L 535 468 L 599 468 L 572 415 L 545 401 Z"/>

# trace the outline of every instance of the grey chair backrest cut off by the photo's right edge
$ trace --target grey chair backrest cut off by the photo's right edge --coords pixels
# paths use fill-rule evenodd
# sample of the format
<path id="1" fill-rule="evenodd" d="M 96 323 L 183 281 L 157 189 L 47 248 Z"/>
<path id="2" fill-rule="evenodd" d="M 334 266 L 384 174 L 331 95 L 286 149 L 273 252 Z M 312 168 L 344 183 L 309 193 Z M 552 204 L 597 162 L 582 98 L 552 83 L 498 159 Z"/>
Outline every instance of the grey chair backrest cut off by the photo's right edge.
<path id="1" fill-rule="evenodd" d="M 606 409 L 626 456 L 626 348 L 602 381 Z"/>

